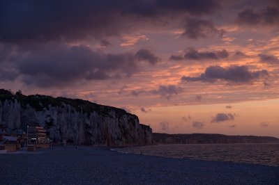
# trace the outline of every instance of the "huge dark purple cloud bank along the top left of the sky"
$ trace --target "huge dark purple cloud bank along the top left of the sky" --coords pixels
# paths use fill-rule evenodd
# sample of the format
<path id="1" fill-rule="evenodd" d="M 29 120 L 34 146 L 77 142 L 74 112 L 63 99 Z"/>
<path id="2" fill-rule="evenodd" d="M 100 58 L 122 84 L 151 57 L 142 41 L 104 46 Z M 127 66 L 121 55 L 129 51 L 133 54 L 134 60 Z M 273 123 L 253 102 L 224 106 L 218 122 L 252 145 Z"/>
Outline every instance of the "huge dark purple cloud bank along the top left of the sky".
<path id="1" fill-rule="evenodd" d="M 204 15 L 220 8 L 218 0 L 17 0 L 0 1 L 0 7 L 0 40 L 5 42 L 100 39 L 119 35 L 140 20 Z"/>

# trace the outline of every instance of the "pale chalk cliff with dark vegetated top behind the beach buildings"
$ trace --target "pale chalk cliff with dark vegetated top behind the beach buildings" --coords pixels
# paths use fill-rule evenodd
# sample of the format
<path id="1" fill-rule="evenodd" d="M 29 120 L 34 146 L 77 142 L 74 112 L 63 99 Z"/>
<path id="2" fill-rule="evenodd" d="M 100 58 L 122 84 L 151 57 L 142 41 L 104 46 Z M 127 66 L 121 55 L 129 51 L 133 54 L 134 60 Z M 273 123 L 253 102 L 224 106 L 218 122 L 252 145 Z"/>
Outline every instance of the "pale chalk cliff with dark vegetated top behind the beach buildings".
<path id="1" fill-rule="evenodd" d="M 54 141 L 78 144 L 147 145 L 152 130 L 136 115 L 120 108 L 93 104 L 82 99 L 42 95 L 1 95 L 0 125 L 25 131 L 27 124 L 45 127 Z"/>

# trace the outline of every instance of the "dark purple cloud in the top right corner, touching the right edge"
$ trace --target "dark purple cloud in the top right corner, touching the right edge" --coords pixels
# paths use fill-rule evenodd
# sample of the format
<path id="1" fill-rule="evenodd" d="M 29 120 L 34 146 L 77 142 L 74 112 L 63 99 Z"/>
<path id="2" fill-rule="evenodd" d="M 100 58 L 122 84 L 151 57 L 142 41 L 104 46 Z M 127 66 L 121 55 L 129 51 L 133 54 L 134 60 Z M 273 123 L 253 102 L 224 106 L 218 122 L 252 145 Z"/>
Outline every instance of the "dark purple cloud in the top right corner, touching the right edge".
<path id="1" fill-rule="evenodd" d="M 237 17 L 239 24 L 255 26 L 257 24 L 274 25 L 279 22 L 279 8 L 266 7 L 256 11 L 253 8 L 246 8 Z"/>

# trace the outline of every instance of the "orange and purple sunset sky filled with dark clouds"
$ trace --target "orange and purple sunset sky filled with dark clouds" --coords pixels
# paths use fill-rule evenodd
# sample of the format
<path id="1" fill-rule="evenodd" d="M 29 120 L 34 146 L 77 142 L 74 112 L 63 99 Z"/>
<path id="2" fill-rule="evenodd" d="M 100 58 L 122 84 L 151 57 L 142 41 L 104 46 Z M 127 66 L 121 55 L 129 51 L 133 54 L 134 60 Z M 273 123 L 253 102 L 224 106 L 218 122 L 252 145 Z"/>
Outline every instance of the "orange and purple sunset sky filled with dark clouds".
<path id="1" fill-rule="evenodd" d="M 0 1 L 0 87 L 153 132 L 279 137 L 278 0 Z"/>

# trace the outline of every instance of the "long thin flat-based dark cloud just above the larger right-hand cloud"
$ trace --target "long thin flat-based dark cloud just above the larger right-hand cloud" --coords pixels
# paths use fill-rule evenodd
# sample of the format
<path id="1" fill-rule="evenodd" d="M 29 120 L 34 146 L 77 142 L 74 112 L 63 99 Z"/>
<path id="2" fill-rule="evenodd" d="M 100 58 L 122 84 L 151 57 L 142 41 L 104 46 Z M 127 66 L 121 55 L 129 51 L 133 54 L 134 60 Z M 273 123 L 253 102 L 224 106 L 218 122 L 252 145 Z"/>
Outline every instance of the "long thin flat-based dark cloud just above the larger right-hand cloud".
<path id="1" fill-rule="evenodd" d="M 229 53 L 226 49 L 220 51 L 197 51 L 193 47 L 186 49 L 184 56 L 172 55 L 169 59 L 173 61 L 181 60 L 194 60 L 194 61 L 204 61 L 204 60 L 220 60 L 223 58 L 228 58 Z"/>

